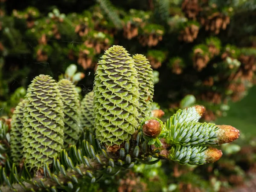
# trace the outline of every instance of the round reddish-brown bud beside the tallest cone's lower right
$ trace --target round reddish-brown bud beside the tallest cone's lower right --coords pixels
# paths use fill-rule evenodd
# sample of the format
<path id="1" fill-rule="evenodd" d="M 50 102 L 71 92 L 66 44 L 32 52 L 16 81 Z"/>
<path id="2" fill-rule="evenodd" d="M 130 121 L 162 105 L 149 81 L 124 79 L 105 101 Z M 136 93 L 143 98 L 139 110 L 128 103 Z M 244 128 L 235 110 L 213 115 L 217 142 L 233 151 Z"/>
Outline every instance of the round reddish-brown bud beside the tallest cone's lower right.
<path id="1" fill-rule="evenodd" d="M 143 134 L 151 138 L 157 138 L 157 136 L 162 131 L 160 122 L 158 122 L 155 119 L 150 119 L 145 121 L 145 124 L 143 125 L 142 128 L 143 128 Z"/>

